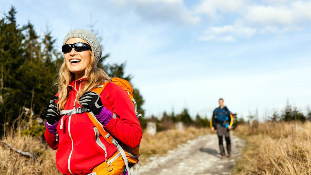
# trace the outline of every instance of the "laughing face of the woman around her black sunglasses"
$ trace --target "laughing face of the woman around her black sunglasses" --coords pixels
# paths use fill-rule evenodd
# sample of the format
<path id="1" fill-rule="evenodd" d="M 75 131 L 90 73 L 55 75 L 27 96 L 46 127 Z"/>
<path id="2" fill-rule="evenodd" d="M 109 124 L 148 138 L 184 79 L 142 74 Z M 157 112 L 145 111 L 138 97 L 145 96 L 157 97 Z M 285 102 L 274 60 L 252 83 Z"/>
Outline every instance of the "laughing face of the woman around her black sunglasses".
<path id="1" fill-rule="evenodd" d="M 81 38 L 70 38 L 69 40 L 67 40 L 66 44 L 74 44 L 79 42 L 88 44 L 85 40 Z M 75 74 L 75 79 L 78 80 L 84 78 L 85 69 L 91 63 L 90 51 L 83 50 L 81 52 L 77 52 L 72 47 L 72 50 L 68 53 L 65 53 L 64 57 L 67 68 L 70 72 Z"/>

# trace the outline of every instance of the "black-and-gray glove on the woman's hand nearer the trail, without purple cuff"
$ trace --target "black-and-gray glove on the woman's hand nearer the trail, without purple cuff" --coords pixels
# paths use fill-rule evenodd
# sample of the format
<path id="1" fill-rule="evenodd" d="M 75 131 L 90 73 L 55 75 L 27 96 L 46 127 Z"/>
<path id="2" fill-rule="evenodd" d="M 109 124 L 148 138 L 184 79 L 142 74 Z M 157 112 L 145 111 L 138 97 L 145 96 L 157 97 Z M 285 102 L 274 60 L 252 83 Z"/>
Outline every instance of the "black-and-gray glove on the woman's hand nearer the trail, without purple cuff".
<path id="1" fill-rule="evenodd" d="M 95 115 L 99 115 L 103 109 L 103 103 L 100 100 L 100 96 L 95 92 L 85 92 L 79 99 L 79 103 L 93 111 Z"/>

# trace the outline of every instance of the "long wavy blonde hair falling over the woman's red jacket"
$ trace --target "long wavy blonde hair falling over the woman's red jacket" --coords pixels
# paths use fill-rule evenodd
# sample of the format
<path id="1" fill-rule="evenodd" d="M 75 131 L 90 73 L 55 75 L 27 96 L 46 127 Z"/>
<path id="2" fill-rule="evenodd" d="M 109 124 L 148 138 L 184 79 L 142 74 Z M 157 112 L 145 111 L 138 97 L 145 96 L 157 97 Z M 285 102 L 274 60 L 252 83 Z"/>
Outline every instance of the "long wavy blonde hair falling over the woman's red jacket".
<path id="1" fill-rule="evenodd" d="M 91 91 L 95 87 L 99 86 L 103 81 L 110 81 L 109 76 L 103 69 L 97 68 L 97 61 L 94 58 L 94 51 L 89 50 L 91 53 L 90 64 L 85 69 L 85 77 L 87 79 L 84 83 L 83 88 L 79 89 L 79 94 L 77 99 L 79 99 L 85 92 Z M 67 103 L 69 97 L 69 83 L 75 80 L 74 73 L 70 72 L 67 68 L 66 61 L 62 64 L 60 71 L 58 73 L 58 82 L 56 83 L 58 87 L 58 110 L 61 111 L 62 108 Z"/>

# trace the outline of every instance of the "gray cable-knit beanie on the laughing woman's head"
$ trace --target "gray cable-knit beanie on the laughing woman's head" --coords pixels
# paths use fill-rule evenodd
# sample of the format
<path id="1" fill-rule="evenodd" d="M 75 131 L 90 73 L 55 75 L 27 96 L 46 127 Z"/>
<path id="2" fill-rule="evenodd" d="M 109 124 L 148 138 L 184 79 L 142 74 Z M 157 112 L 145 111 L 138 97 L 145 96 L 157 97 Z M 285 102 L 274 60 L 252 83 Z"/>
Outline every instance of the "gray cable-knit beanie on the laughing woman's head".
<path id="1" fill-rule="evenodd" d="M 85 40 L 94 50 L 94 58 L 96 62 L 100 60 L 101 58 L 101 46 L 100 42 L 97 39 L 97 37 L 90 31 L 87 31 L 85 29 L 76 29 L 73 31 L 70 31 L 64 39 L 64 44 L 66 44 L 67 40 L 70 38 L 81 38 Z"/>

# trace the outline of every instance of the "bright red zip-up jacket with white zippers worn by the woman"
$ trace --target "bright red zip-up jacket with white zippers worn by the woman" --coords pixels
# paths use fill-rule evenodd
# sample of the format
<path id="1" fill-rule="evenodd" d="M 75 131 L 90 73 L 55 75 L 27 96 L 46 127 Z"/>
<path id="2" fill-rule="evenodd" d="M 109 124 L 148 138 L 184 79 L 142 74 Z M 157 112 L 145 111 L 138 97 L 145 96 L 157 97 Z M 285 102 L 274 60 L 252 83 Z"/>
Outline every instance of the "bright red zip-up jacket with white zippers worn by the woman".
<path id="1" fill-rule="evenodd" d="M 63 110 L 79 107 L 76 96 L 85 81 L 86 78 L 76 80 L 76 87 L 74 81 L 70 83 L 69 98 Z M 115 119 L 111 118 L 104 129 L 129 147 L 137 147 L 142 139 L 142 127 L 128 93 L 122 87 L 108 83 L 100 98 L 104 107 L 117 115 Z M 57 126 L 58 139 L 45 130 L 45 140 L 52 149 L 57 149 L 56 166 L 62 174 L 85 175 L 105 161 L 105 151 L 95 141 L 94 127 L 88 115 L 82 113 L 62 116 Z M 107 158 L 117 151 L 114 145 L 108 144 L 102 137 L 100 141 L 107 149 Z"/>

